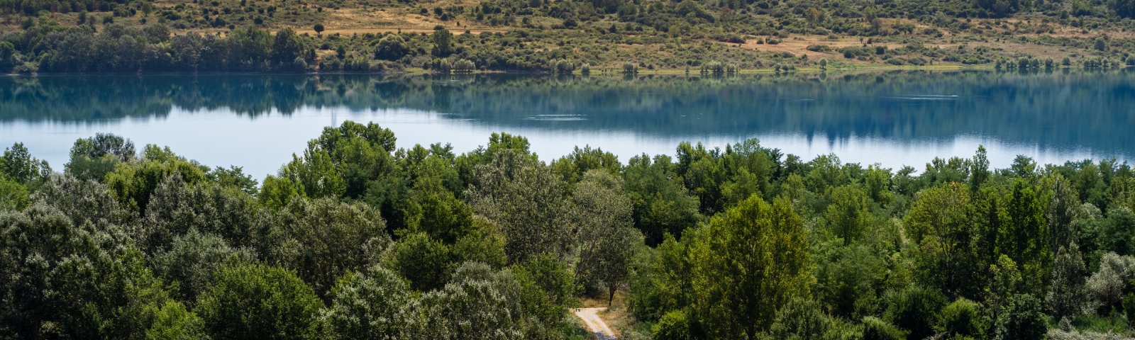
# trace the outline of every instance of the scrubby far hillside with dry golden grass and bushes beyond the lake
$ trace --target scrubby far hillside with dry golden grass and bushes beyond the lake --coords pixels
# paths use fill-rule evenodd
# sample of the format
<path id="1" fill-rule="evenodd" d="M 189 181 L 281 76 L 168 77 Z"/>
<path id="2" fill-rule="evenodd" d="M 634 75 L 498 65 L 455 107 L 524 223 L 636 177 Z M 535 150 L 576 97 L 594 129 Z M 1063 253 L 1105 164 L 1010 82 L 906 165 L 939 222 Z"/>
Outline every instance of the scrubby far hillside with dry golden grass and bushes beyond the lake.
<path id="1" fill-rule="evenodd" d="M 7 0 L 0 12 L 0 71 L 18 74 L 1135 63 L 1132 0 Z"/>

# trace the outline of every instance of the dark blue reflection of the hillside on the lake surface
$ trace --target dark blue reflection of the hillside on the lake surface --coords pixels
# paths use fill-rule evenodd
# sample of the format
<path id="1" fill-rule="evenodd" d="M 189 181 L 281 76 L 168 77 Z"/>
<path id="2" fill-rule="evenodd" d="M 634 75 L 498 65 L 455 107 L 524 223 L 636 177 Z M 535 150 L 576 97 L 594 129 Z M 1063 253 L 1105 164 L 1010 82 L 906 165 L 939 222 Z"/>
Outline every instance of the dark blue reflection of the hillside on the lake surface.
<path id="1" fill-rule="evenodd" d="M 455 82 L 452 82 L 455 80 Z M 0 121 L 227 109 L 407 108 L 529 128 L 647 135 L 802 134 L 900 141 L 984 135 L 1128 152 L 1135 80 L 1120 70 L 692 76 L 241 75 L 0 78 Z"/>

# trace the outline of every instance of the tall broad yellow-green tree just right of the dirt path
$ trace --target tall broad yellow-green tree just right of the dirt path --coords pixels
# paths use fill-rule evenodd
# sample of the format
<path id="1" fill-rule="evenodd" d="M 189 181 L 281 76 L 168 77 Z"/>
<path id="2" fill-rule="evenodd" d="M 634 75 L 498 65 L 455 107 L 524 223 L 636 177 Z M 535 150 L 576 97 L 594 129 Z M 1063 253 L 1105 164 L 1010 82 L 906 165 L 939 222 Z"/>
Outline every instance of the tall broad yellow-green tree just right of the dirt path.
<path id="1" fill-rule="evenodd" d="M 812 280 L 804 224 L 781 198 L 750 197 L 709 222 L 696 250 L 696 308 L 716 338 L 755 339 Z"/>

